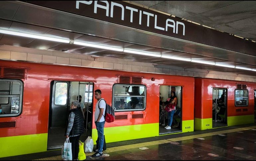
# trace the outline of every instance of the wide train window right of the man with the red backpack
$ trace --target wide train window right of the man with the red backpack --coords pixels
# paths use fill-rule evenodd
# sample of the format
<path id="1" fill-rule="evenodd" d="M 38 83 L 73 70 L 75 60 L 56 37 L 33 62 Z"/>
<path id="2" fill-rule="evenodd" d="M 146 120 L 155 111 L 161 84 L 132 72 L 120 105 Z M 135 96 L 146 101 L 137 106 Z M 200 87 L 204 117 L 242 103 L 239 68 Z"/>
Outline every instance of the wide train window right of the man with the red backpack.
<path id="1" fill-rule="evenodd" d="M 146 108 L 146 87 L 143 85 L 114 85 L 115 111 L 141 111 Z"/>

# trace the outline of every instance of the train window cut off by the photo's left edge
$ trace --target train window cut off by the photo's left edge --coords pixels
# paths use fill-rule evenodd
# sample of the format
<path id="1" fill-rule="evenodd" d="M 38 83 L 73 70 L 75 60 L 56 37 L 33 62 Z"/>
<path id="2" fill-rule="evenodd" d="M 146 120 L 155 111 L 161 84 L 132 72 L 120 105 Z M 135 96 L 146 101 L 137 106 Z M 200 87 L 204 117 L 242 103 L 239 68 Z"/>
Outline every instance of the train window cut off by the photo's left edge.
<path id="1" fill-rule="evenodd" d="M 0 80 L 0 117 L 21 114 L 23 83 L 19 80 Z"/>

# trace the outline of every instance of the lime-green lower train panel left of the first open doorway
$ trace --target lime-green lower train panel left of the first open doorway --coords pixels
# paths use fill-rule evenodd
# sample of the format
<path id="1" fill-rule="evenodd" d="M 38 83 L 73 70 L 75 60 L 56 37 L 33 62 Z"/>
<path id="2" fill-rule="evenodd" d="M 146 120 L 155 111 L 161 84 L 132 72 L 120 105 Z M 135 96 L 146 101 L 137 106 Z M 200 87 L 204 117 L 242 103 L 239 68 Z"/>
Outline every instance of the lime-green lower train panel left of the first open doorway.
<path id="1" fill-rule="evenodd" d="M 47 150 L 48 133 L 0 137 L 0 158 Z"/>

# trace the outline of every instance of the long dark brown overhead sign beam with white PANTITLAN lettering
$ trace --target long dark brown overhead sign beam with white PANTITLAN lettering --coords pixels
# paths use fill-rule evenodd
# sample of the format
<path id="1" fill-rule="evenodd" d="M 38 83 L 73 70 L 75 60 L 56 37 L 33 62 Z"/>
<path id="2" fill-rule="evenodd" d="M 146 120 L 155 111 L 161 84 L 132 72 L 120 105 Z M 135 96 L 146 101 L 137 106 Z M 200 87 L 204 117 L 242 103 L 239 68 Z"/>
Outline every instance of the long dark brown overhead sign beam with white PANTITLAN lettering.
<path id="1" fill-rule="evenodd" d="M 25 1 L 133 29 L 256 55 L 255 42 L 124 1 Z M 58 18 L 56 18 L 58 19 Z M 75 22 L 74 22 L 75 23 Z M 86 23 L 86 20 L 77 24 Z M 111 25 L 111 24 L 109 24 Z M 95 26 L 97 28 L 97 26 Z M 104 30 L 102 28 L 102 30 Z M 132 29 L 131 29 L 132 30 Z M 161 39 L 159 40 L 161 41 Z M 161 42 L 160 42 L 161 43 Z M 190 48 L 189 48 L 190 49 Z"/>

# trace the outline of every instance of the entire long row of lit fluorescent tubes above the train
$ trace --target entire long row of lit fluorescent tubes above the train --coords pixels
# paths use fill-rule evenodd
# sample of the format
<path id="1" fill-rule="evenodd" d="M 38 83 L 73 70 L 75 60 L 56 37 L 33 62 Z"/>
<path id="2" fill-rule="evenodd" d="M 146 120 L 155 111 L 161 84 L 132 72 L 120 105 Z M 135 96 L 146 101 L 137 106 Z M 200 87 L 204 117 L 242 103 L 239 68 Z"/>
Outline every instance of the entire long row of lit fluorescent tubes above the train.
<path id="1" fill-rule="evenodd" d="M 169 56 L 169 55 L 162 55 L 161 53 L 154 54 L 154 53 L 148 53 L 148 52 L 141 52 L 141 51 L 129 50 L 129 49 L 125 49 L 125 48 L 117 48 L 117 47 L 97 45 L 97 44 L 86 43 L 86 42 L 79 42 L 79 41 L 75 41 L 75 40 L 65 40 L 65 39 L 58 39 L 58 38 L 52 38 L 52 37 L 45 37 L 45 36 L 27 34 L 27 33 L 16 32 L 16 31 L 9 31 L 9 30 L 1 30 L 0 29 L 0 33 L 8 34 L 8 35 L 14 35 L 14 36 L 27 37 L 27 38 L 34 38 L 34 39 L 77 44 L 77 45 L 82 45 L 82 46 L 102 48 L 102 49 L 107 49 L 107 50 L 114 50 L 114 51 L 127 52 L 127 53 L 133 53 L 133 54 L 140 54 L 140 55 L 147 55 L 147 56 L 154 56 L 154 57 L 162 57 L 162 58 L 181 60 L 181 61 L 190 61 L 190 62 L 194 62 L 194 63 L 208 64 L 208 65 L 216 65 L 216 66 L 227 67 L 227 68 L 236 68 L 236 69 L 242 69 L 242 70 L 256 71 L 256 69 L 252 69 L 252 68 L 244 68 L 244 67 L 239 67 L 239 66 L 234 66 L 234 65 L 224 65 L 224 64 L 218 64 L 218 63 L 207 62 L 207 61 L 193 60 L 191 58 L 181 58 L 181 57 L 175 57 L 175 56 Z"/>

